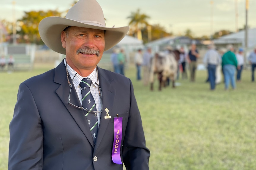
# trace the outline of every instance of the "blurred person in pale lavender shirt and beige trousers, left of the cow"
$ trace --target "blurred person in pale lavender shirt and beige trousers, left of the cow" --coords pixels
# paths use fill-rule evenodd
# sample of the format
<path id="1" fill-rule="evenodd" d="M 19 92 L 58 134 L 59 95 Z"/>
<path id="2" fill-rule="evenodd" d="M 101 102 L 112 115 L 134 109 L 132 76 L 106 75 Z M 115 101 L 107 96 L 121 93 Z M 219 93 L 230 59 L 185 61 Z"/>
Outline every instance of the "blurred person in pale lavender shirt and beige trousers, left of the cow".
<path id="1" fill-rule="evenodd" d="M 151 48 L 148 47 L 147 51 L 142 56 L 142 66 L 143 66 L 143 85 L 147 86 L 149 82 L 149 70 L 150 70 L 150 60 L 152 58 Z"/>

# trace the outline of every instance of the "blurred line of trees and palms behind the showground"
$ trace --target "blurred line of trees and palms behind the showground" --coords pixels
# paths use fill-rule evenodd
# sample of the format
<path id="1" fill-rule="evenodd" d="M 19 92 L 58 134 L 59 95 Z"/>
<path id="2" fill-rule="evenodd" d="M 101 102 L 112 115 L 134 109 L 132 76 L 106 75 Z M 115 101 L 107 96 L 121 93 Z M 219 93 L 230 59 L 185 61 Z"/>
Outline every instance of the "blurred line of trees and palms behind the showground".
<path id="1" fill-rule="evenodd" d="M 76 1 L 72 5 L 74 5 Z M 29 11 L 25 12 L 24 16 L 17 20 L 17 42 L 18 43 L 35 43 L 35 44 L 43 44 L 39 32 L 38 32 L 38 25 L 39 22 L 45 18 L 50 16 L 57 16 L 61 17 L 65 15 L 67 11 L 59 12 L 56 10 L 48 10 L 48 11 Z M 137 9 L 135 12 L 131 12 L 131 14 L 127 17 L 129 19 L 129 27 L 130 30 L 128 35 L 137 37 L 140 40 L 143 40 L 143 43 L 148 43 L 150 41 L 157 40 L 159 38 L 172 36 L 172 32 L 167 32 L 165 27 L 161 26 L 160 24 L 150 25 L 148 20 L 150 16 L 147 14 L 141 13 L 140 9 Z M 107 19 L 105 19 L 107 21 Z M 12 41 L 12 31 L 13 31 L 13 24 L 12 22 L 8 22 L 7 20 L 1 20 L 2 24 L 6 27 L 9 36 L 4 36 L 4 41 Z M 210 40 L 210 39 L 217 39 L 223 35 L 227 35 L 232 33 L 229 30 L 219 30 L 215 32 L 213 35 L 203 35 L 201 37 L 195 37 L 190 29 L 187 29 L 183 35 L 180 36 L 187 36 L 191 39 L 197 40 Z"/>

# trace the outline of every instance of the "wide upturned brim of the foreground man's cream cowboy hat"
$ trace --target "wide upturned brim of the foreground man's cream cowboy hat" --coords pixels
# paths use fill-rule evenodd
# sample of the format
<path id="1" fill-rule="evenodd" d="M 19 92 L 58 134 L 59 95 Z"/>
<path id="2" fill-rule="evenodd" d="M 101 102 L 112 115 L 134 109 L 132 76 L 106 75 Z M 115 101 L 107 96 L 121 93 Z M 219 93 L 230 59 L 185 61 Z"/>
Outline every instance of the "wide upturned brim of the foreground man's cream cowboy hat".
<path id="1" fill-rule="evenodd" d="M 63 24 L 65 23 L 65 24 Z M 121 41 L 124 36 L 129 31 L 129 27 L 104 27 L 98 23 L 90 22 L 86 24 L 83 22 L 78 22 L 68 18 L 62 17 L 46 17 L 39 23 L 39 34 L 42 41 L 46 46 L 51 48 L 60 54 L 66 54 L 65 48 L 62 47 L 61 43 L 61 31 L 63 31 L 68 26 L 92 28 L 99 30 L 106 30 L 105 32 L 105 49 L 104 51 L 115 46 L 119 41 Z"/>

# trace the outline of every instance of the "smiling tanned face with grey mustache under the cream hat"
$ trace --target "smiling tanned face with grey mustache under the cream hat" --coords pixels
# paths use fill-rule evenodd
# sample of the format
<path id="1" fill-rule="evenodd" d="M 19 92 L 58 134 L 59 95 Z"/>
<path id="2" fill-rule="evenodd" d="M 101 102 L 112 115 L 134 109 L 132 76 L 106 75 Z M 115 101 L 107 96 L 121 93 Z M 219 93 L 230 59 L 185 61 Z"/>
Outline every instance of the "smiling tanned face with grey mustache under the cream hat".
<path id="1" fill-rule="evenodd" d="M 104 48 L 104 30 L 69 27 L 67 34 L 61 32 L 62 47 L 66 49 L 66 60 L 76 72 L 91 70 L 99 63 Z M 82 75 L 83 76 L 83 75 Z"/>

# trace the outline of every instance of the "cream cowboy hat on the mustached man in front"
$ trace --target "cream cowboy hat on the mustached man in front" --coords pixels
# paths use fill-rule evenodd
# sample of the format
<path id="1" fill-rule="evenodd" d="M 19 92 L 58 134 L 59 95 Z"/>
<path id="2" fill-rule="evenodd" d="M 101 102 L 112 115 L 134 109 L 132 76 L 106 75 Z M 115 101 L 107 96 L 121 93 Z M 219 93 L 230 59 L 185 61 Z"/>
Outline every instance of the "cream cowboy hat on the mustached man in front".
<path id="1" fill-rule="evenodd" d="M 115 46 L 129 31 L 129 27 L 106 27 L 103 11 L 96 0 L 80 0 L 69 9 L 65 18 L 46 17 L 39 23 L 42 41 L 61 54 L 66 54 L 61 43 L 61 31 L 68 26 L 105 30 L 105 49 Z"/>

